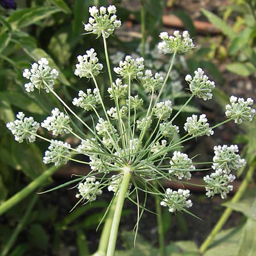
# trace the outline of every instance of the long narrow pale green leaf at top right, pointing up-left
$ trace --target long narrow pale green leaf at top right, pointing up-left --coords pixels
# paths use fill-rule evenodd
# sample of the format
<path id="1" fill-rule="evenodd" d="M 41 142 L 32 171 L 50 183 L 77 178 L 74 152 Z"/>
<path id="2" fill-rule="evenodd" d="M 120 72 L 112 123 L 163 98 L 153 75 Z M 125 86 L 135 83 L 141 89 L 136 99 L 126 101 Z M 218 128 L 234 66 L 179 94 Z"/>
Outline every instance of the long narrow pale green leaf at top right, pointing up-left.
<path id="1" fill-rule="evenodd" d="M 233 39 L 236 36 L 234 30 L 231 27 L 229 27 L 229 25 L 226 22 L 224 22 L 224 20 L 219 18 L 217 15 L 205 9 L 201 9 L 201 12 L 207 17 L 210 23 L 212 23 L 217 28 L 220 28 L 223 34 L 228 36 L 228 38 Z"/>

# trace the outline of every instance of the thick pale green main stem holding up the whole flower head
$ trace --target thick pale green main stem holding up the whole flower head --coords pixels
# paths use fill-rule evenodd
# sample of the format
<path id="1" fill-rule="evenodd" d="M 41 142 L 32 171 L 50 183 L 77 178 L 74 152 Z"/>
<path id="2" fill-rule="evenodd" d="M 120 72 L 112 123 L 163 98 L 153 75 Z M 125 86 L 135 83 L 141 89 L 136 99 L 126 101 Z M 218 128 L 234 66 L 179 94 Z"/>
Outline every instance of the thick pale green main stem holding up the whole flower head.
<path id="1" fill-rule="evenodd" d="M 123 179 L 120 185 L 118 195 L 117 195 L 117 205 L 115 206 L 115 212 L 113 217 L 113 222 L 111 226 L 109 244 L 106 256 L 114 256 L 115 253 L 115 244 L 117 243 L 117 233 L 119 228 L 119 222 L 121 219 L 123 202 L 125 201 L 128 185 L 130 182 L 130 167 L 123 168 Z"/>

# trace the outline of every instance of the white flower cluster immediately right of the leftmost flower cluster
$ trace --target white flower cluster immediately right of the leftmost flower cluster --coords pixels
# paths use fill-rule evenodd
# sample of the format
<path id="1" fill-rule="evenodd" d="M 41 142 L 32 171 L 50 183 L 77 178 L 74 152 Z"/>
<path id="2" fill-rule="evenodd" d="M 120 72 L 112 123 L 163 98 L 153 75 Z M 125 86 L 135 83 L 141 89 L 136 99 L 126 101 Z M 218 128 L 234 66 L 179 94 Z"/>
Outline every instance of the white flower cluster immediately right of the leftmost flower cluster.
<path id="1" fill-rule="evenodd" d="M 70 133 L 72 127 L 69 125 L 70 119 L 68 115 L 60 112 L 59 109 L 55 108 L 52 110 L 52 115 L 47 117 L 41 126 L 46 128 L 48 131 L 52 131 L 52 134 L 57 136 L 59 134 Z"/>

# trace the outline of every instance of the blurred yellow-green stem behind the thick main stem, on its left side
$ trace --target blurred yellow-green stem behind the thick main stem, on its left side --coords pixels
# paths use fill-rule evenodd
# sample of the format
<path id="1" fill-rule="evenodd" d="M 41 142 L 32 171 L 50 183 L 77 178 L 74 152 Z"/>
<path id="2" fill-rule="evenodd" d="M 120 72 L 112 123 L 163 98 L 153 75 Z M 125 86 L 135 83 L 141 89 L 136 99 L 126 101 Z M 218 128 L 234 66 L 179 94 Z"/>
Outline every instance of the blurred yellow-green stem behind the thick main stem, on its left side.
<path id="1" fill-rule="evenodd" d="M 105 220 L 104 227 L 101 232 L 101 238 L 100 238 L 100 243 L 98 245 L 98 250 L 96 253 L 93 254 L 93 256 L 105 256 L 106 251 L 108 249 L 108 243 L 109 243 L 109 236 L 110 236 L 110 230 L 112 226 L 112 221 L 114 217 L 114 210 L 115 210 L 115 205 L 117 204 L 117 197 L 113 200 L 113 203 L 109 209 L 108 215 Z"/>

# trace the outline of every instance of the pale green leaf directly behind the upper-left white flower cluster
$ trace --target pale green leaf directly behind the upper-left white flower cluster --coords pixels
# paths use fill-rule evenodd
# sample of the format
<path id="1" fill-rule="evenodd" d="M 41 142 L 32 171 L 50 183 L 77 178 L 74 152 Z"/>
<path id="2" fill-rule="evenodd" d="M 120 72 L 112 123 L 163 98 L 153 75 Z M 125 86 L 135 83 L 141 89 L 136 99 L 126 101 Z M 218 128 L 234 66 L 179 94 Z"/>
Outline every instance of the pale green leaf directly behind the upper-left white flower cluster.
<path id="1" fill-rule="evenodd" d="M 53 61 L 53 59 L 43 50 L 40 48 L 36 48 L 33 49 L 32 51 L 30 51 L 27 48 L 23 48 L 24 51 L 27 53 L 28 56 L 31 56 L 32 59 L 34 59 L 35 61 L 38 61 L 39 59 L 41 59 L 42 57 L 47 58 L 47 60 L 49 61 L 49 66 L 51 68 L 55 68 L 57 69 L 57 71 L 59 71 L 59 76 L 58 76 L 58 80 L 60 82 L 62 82 L 65 85 L 71 85 L 70 82 L 66 79 L 66 77 L 64 76 L 64 74 L 60 71 L 60 68 L 57 67 L 56 63 Z"/>

